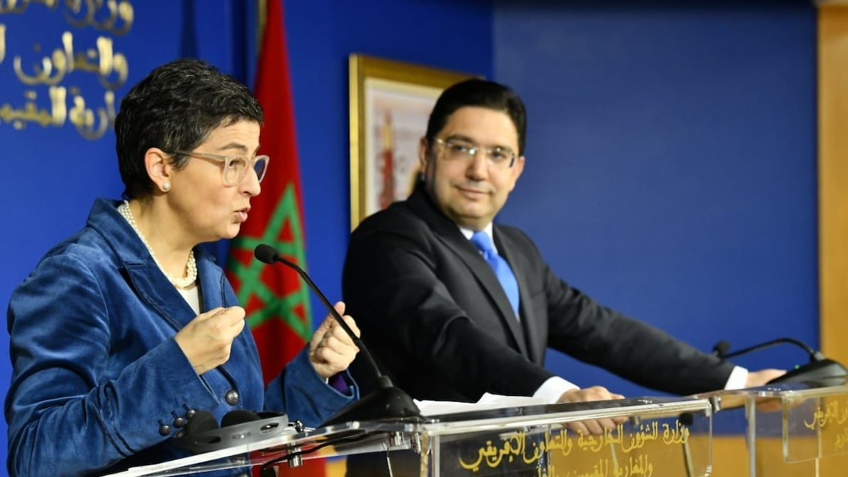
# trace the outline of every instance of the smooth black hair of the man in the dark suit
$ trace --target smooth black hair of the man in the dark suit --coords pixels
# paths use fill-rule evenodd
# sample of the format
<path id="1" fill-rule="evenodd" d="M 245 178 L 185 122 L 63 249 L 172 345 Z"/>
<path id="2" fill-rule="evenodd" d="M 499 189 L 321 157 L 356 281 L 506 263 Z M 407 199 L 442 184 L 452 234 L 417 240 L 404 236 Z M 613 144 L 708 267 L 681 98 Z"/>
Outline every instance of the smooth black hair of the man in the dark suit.
<path id="1" fill-rule="evenodd" d="M 436 100 L 427 121 L 427 141 L 432 140 L 448 123 L 450 115 L 456 109 L 466 106 L 477 106 L 505 112 L 510 116 L 512 124 L 518 133 L 518 154 L 524 154 L 527 134 L 527 111 L 524 109 L 522 98 L 510 87 L 494 81 L 471 79 L 460 81 L 444 90 Z"/>

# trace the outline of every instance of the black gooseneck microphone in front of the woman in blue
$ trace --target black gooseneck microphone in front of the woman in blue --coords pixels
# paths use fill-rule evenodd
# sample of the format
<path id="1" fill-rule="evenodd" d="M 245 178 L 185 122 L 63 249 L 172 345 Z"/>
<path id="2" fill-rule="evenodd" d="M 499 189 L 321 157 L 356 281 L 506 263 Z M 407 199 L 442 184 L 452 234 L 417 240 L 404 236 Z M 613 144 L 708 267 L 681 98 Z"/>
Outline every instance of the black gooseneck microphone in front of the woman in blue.
<path id="1" fill-rule="evenodd" d="M 365 356 L 365 361 L 369 363 L 371 368 L 374 370 L 374 374 L 377 376 L 377 386 L 375 386 L 377 390 L 371 392 L 367 396 L 361 396 L 358 401 L 354 401 L 348 406 L 343 407 L 340 411 L 328 418 L 324 424 L 321 424 L 322 427 L 350 421 L 421 417 L 421 410 L 419 410 L 416 403 L 412 401 L 410 395 L 406 394 L 404 390 L 395 387 L 394 384 L 392 384 L 392 380 L 380 371 L 380 368 L 377 367 L 377 362 L 374 361 L 374 357 L 371 356 L 368 348 L 365 347 L 365 343 L 360 340 L 359 336 L 354 334 L 354 331 L 350 329 L 348 323 L 344 323 L 342 316 L 338 314 L 338 311 L 336 311 L 335 308 L 333 308 L 330 300 L 326 299 L 326 296 L 321 293 L 321 290 L 318 289 L 318 286 L 315 285 L 312 278 L 304 272 L 303 268 L 298 267 L 298 265 L 293 261 L 288 261 L 285 258 L 282 258 L 282 256 L 280 256 L 280 254 L 277 253 L 271 245 L 257 245 L 254 249 L 254 255 L 257 259 L 259 259 L 259 261 L 267 264 L 280 262 L 287 267 L 293 268 L 295 272 L 298 272 L 298 274 L 304 278 L 304 281 L 310 285 L 310 289 L 315 292 L 315 295 L 321 299 L 321 303 L 324 304 L 326 310 L 329 311 L 332 317 L 336 319 L 344 332 L 348 334 L 351 340 L 354 340 L 354 344 L 359 347 L 360 353 L 362 353 L 362 356 Z"/>

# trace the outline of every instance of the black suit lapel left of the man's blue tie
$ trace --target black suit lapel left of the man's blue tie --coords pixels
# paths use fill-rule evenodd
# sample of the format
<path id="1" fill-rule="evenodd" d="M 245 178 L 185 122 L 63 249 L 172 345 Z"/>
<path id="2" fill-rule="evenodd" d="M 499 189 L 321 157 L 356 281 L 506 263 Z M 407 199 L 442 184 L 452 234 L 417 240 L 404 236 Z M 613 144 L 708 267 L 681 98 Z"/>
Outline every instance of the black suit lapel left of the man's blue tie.
<path id="1" fill-rule="evenodd" d="M 452 250 L 466 264 L 466 267 L 471 270 L 471 273 L 477 278 L 477 282 L 480 283 L 489 299 L 494 303 L 500 319 L 510 329 L 512 338 L 515 340 L 519 351 L 524 356 L 530 356 L 527 354 L 527 342 L 524 339 L 522 325 L 512 311 L 510 300 L 506 297 L 503 287 L 500 286 L 494 270 L 492 270 L 492 267 L 483 258 L 483 255 L 480 254 L 480 251 L 477 250 L 477 247 L 466 239 L 466 236 L 460 232 L 460 228 L 454 222 L 450 221 L 432 206 L 423 188 L 416 188 L 416 191 L 410 196 L 408 203 L 416 211 L 416 214 L 427 222 L 436 238 L 449 250 Z M 519 282 L 519 294 L 522 296 L 521 282 Z"/>

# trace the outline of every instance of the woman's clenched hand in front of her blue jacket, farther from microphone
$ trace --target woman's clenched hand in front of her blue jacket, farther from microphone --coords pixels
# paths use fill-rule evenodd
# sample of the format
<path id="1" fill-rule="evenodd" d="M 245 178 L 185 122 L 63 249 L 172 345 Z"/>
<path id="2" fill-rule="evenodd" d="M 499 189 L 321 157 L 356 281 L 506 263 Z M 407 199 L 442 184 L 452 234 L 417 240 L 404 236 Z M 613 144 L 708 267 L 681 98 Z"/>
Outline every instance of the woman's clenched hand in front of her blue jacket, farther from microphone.
<path id="1" fill-rule="evenodd" d="M 244 328 L 244 308 L 230 306 L 201 313 L 174 337 L 195 373 L 206 373 L 230 359 L 232 340 Z"/>

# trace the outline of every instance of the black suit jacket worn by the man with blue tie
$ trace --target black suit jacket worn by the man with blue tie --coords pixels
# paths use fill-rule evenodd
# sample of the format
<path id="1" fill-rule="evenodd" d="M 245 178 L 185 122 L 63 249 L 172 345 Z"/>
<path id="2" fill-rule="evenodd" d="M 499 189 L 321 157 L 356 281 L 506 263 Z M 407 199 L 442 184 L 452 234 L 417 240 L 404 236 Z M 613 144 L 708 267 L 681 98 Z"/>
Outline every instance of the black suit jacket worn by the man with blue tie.
<path id="1" fill-rule="evenodd" d="M 548 346 L 671 393 L 726 383 L 732 364 L 600 306 L 557 278 L 520 230 L 495 225 L 494 242 L 516 274 L 520 321 L 492 268 L 421 185 L 351 236 L 343 272 L 347 312 L 378 365 L 411 396 L 532 396 L 554 375 L 544 368 Z M 367 392 L 374 379 L 364 359 L 353 372 Z"/>

